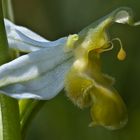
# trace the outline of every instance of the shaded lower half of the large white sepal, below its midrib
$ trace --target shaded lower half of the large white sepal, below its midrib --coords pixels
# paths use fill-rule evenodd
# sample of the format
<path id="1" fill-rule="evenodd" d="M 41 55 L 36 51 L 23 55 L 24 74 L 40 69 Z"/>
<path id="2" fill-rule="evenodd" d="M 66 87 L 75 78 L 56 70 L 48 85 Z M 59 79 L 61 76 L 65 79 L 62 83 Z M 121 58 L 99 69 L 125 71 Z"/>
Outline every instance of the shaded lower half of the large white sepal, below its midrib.
<path id="1" fill-rule="evenodd" d="M 11 84 L 0 89 L 0 92 L 8 96 L 23 99 L 34 98 L 49 100 L 56 96 L 64 87 L 64 77 L 71 66 L 72 60 L 69 59 L 63 64 L 58 65 L 52 71 L 43 73 L 39 78 L 28 82 Z"/>

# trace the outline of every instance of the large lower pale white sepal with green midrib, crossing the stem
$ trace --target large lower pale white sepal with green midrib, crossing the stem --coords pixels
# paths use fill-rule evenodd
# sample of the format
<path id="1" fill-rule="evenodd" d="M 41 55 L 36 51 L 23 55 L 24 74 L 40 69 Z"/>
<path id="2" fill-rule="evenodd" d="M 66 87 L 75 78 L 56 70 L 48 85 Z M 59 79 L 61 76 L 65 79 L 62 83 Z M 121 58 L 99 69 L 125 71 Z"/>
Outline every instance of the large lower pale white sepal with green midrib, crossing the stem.
<path id="1" fill-rule="evenodd" d="M 71 64 L 64 44 L 21 56 L 0 67 L 0 91 L 14 98 L 50 99 L 64 87 Z"/>

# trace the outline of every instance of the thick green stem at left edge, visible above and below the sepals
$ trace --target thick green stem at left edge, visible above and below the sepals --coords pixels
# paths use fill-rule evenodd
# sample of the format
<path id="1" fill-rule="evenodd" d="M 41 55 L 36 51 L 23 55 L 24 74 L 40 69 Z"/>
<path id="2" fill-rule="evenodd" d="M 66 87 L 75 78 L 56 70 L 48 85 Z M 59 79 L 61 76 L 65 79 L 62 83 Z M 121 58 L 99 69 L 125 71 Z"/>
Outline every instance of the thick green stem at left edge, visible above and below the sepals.
<path id="1" fill-rule="evenodd" d="M 10 60 L 0 0 L 0 65 Z M 18 101 L 0 94 L 0 140 L 20 140 Z"/>

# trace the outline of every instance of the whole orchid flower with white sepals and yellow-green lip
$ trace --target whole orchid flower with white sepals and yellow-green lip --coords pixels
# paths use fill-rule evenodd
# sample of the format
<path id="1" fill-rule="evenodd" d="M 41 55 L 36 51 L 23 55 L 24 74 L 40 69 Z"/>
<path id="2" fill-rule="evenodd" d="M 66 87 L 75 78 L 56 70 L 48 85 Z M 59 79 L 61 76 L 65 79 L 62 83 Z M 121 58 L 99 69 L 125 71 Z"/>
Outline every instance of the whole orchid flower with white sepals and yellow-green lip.
<path id="1" fill-rule="evenodd" d="M 131 14 L 129 8 L 116 9 L 78 34 L 56 41 L 5 20 L 10 49 L 28 54 L 0 66 L 0 93 L 17 99 L 49 100 L 65 87 L 74 104 L 91 107 L 91 125 L 124 126 L 126 106 L 113 88 L 113 78 L 102 73 L 100 55 L 113 48 L 107 28 L 115 22 L 132 25 Z M 125 56 L 121 45 L 118 59 Z"/>

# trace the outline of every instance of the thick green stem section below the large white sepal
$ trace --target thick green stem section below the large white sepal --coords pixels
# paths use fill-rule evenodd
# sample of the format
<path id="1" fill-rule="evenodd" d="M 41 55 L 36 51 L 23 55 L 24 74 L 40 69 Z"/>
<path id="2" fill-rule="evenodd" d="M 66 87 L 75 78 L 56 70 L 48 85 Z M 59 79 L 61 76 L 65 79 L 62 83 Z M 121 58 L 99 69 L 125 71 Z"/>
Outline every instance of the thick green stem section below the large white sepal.
<path id="1" fill-rule="evenodd" d="M 0 140 L 20 140 L 18 103 L 0 95 Z"/>

